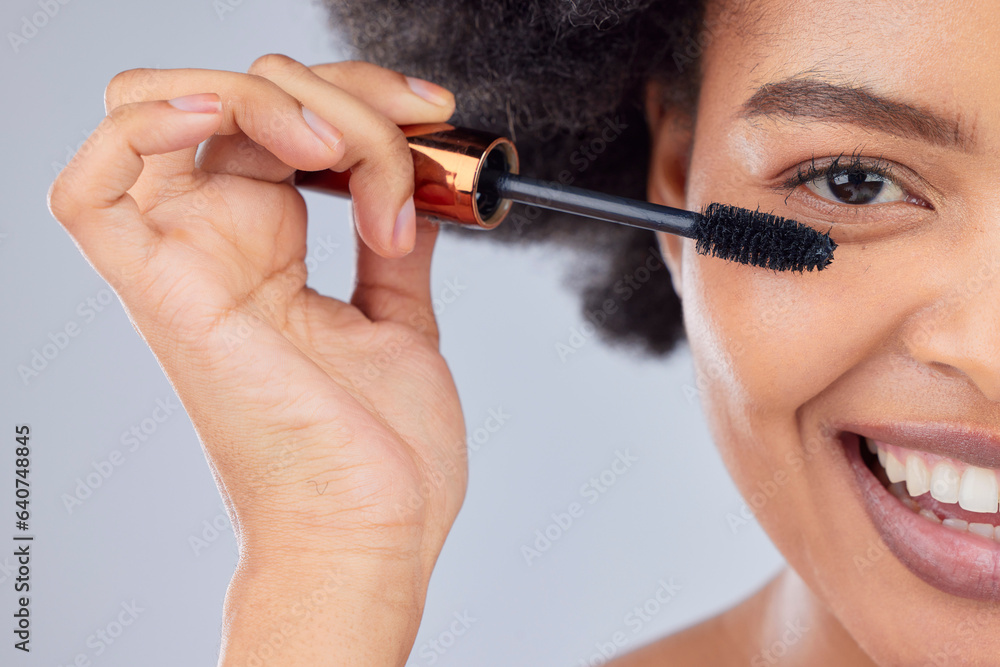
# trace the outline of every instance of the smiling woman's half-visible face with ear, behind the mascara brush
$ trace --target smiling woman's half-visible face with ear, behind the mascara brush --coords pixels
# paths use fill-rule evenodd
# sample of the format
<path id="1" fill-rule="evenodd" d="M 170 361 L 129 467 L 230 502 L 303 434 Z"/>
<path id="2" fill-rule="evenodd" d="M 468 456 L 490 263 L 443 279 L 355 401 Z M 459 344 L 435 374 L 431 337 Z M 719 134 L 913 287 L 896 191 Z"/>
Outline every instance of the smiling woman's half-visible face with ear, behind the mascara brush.
<path id="1" fill-rule="evenodd" d="M 660 239 L 713 435 L 876 661 L 995 664 L 1000 541 L 940 519 L 1000 524 L 1000 7 L 746 4 L 710 8 L 690 163 L 657 121 L 650 198 L 760 208 L 839 247 L 794 274 Z"/>

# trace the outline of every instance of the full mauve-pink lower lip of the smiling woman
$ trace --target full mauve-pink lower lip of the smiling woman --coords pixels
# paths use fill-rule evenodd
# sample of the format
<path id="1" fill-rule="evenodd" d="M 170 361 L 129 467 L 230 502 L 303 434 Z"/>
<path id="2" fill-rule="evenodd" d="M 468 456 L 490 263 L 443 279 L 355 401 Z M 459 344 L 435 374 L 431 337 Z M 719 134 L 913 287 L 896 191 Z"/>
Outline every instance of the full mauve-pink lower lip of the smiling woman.
<path id="1" fill-rule="evenodd" d="M 933 523 L 905 507 L 861 459 L 858 436 L 842 437 L 865 509 L 889 551 L 945 593 L 1000 602 L 1000 544 Z"/>

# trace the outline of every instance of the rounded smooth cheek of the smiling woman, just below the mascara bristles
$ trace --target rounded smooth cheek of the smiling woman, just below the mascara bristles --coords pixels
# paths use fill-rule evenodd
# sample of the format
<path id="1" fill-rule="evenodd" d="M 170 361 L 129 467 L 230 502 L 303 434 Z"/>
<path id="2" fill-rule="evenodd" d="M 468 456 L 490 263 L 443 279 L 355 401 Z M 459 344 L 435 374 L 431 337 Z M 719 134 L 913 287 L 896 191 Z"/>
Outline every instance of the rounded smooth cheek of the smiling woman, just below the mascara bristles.
<path id="1" fill-rule="evenodd" d="M 726 430 L 794 426 L 801 406 L 886 351 L 918 309 L 912 281 L 891 262 L 873 265 L 858 248 L 838 253 L 824 271 L 778 273 L 685 242 L 685 326 L 702 400 Z"/>

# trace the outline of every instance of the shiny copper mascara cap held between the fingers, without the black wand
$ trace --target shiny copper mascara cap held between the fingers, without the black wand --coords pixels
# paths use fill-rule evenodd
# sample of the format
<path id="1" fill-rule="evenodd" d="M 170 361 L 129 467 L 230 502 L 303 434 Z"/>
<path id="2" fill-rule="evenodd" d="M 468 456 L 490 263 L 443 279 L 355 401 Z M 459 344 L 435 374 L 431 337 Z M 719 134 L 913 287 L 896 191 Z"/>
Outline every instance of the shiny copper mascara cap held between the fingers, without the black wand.
<path id="1" fill-rule="evenodd" d="M 517 149 L 506 137 L 448 123 L 402 125 L 413 154 L 413 204 L 438 222 L 493 229 L 511 200 L 480 189 L 485 171 L 518 173 Z M 350 171 L 297 171 L 295 185 L 350 197 Z"/>

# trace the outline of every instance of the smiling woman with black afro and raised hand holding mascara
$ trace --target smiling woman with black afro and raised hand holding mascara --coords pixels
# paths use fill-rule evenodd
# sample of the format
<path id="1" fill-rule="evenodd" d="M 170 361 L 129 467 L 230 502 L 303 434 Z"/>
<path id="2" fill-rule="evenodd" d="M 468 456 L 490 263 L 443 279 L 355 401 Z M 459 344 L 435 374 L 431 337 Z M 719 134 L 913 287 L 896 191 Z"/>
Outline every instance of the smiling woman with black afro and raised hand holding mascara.
<path id="1" fill-rule="evenodd" d="M 657 239 L 716 444 L 789 568 L 616 665 L 1000 664 L 994 4 L 331 4 L 362 55 L 438 72 L 465 122 L 520 129 L 527 173 L 553 177 L 574 132 L 638 99 L 620 170 L 577 184 L 773 210 L 840 244 L 789 275 Z M 160 360 L 229 508 L 220 664 L 402 664 L 467 477 L 428 293 L 438 230 L 414 214 L 396 126 L 452 118 L 452 93 L 270 55 L 247 75 L 123 72 L 106 99 L 50 207 Z M 305 287 L 289 178 L 328 167 L 352 171 L 350 304 Z M 607 233 L 616 257 L 652 240 Z M 641 294 L 607 330 L 664 351 L 676 303 Z M 329 603 L 302 613 L 318 590 Z"/>

